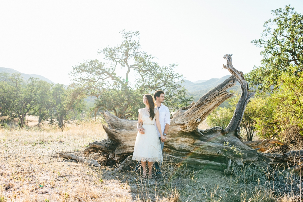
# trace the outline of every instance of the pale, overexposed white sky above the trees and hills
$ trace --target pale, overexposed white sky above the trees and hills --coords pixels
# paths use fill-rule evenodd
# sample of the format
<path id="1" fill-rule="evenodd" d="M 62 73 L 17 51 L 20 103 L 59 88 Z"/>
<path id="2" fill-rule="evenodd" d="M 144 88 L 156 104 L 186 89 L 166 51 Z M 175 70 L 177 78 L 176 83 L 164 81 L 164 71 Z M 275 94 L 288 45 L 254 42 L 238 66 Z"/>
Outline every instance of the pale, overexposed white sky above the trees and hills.
<path id="1" fill-rule="evenodd" d="M 98 50 L 121 42 L 119 31 L 138 30 L 142 50 L 161 66 L 180 64 L 185 79 L 220 78 L 223 55 L 244 73 L 260 65 L 251 44 L 288 3 L 303 1 L 0 1 L 0 67 L 70 84 L 72 66 L 101 59 Z"/>

